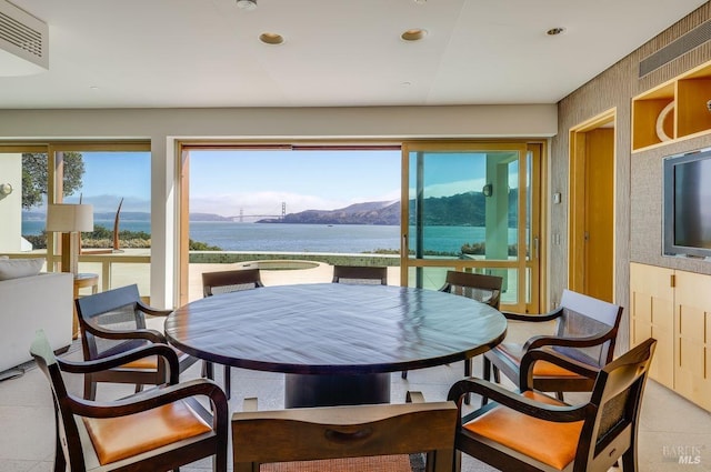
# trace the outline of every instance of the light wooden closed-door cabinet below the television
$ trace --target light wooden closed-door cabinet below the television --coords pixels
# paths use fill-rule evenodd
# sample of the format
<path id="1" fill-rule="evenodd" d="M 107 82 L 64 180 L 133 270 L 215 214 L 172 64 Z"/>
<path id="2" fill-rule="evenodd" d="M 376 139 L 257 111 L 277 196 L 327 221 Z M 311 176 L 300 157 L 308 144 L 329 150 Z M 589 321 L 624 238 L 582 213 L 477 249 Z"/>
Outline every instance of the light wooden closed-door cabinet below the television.
<path id="1" fill-rule="evenodd" d="M 711 411 L 711 275 L 632 263 L 630 343 L 650 337 L 650 376 Z"/>

